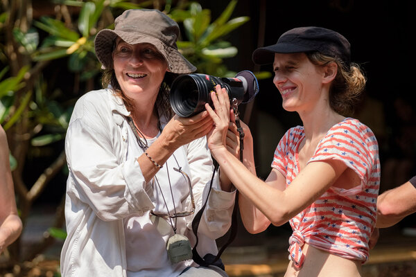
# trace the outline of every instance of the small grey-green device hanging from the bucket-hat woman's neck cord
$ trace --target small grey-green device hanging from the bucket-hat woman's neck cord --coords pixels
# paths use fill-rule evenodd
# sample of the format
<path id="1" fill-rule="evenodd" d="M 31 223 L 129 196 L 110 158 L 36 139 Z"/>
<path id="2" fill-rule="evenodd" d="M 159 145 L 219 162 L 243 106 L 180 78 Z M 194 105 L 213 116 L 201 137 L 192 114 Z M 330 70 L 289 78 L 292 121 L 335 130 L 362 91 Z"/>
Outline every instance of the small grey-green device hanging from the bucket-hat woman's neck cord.
<path id="1" fill-rule="evenodd" d="M 166 244 L 166 250 L 172 264 L 182 262 L 182 260 L 191 260 L 192 258 L 191 243 L 184 235 L 175 234 L 171 236 Z"/>

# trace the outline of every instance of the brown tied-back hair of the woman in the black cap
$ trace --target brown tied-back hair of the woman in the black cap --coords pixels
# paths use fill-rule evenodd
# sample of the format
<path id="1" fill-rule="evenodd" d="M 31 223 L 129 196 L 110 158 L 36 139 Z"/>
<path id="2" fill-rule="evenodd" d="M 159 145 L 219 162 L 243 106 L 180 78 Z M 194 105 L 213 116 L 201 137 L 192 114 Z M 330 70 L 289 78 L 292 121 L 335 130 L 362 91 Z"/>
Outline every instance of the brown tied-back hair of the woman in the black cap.
<path id="1" fill-rule="evenodd" d="M 354 62 L 345 66 L 340 60 L 319 52 L 306 53 L 306 55 L 316 66 L 336 62 L 338 71 L 329 89 L 329 105 L 338 114 L 351 115 L 367 81 L 360 66 Z"/>

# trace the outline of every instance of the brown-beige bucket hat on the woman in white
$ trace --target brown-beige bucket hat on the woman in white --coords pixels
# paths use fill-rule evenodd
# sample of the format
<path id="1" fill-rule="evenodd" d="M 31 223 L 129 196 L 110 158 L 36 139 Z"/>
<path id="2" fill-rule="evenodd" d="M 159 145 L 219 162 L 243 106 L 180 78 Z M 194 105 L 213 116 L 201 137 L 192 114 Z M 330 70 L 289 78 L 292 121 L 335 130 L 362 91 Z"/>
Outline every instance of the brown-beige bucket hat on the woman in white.
<path id="1" fill-rule="evenodd" d="M 177 23 L 159 10 L 125 10 L 114 21 L 114 30 L 103 29 L 96 35 L 96 56 L 103 68 L 112 67 L 114 39 L 119 36 L 128 44 L 153 44 L 164 56 L 172 73 L 191 73 L 196 71 L 196 67 L 177 51 L 179 33 Z"/>

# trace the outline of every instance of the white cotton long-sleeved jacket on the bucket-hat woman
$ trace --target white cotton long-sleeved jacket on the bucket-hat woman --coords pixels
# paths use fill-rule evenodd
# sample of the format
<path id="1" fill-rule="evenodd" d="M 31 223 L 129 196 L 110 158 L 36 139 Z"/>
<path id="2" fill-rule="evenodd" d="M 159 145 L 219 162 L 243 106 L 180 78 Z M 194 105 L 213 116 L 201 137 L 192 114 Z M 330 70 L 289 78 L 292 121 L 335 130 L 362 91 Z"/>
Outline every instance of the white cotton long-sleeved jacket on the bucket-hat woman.
<path id="1" fill-rule="evenodd" d="M 65 141 L 69 177 L 65 199 L 67 239 L 60 264 L 64 277 L 178 276 L 185 267 L 195 265 L 192 261 L 171 265 L 166 241 L 173 231 L 163 233 L 155 223 L 161 218 L 155 221 L 149 211 L 163 211 L 166 204 L 171 212 L 186 211 L 191 206 L 189 186 L 180 181 L 183 178 L 176 182 L 173 176 L 174 163 L 179 163 L 191 178 L 196 211 L 201 208 L 214 168 L 206 138 L 177 149 L 177 161 L 168 159 L 172 168 L 164 166 L 157 173 L 161 186 L 169 184 L 166 173 L 173 179 L 172 197 L 167 193 L 164 197 L 177 201 L 164 203 L 155 181 L 146 182 L 141 173 L 137 157 L 143 151 L 128 125 L 129 115 L 111 89 L 90 91 L 76 102 Z M 161 123 L 162 127 L 166 125 Z M 217 253 L 215 239 L 228 231 L 231 222 L 235 192 L 220 190 L 218 183 L 216 174 L 198 229 L 197 249 L 202 257 Z M 192 217 L 181 217 L 175 224 L 177 233 L 187 235 L 193 245 Z"/>

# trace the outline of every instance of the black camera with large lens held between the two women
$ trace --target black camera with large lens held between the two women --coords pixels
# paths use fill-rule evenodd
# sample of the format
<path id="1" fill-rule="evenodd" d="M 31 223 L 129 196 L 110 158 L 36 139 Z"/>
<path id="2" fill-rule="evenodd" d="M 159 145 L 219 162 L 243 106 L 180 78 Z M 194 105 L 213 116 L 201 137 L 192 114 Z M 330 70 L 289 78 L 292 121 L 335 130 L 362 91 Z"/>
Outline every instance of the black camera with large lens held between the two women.
<path id="1" fill-rule="evenodd" d="M 193 73 L 180 75 L 171 86 L 171 107 L 178 116 L 190 117 L 205 110 L 205 103 L 213 107 L 211 91 L 220 84 L 227 90 L 229 100 L 250 102 L 259 91 L 259 84 L 250 71 L 241 71 L 234 78 L 219 78 L 212 75 Z M 213 107 L 214 108 L 214 107 Z"/>

